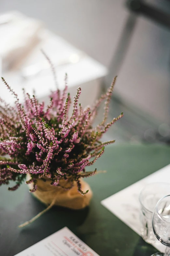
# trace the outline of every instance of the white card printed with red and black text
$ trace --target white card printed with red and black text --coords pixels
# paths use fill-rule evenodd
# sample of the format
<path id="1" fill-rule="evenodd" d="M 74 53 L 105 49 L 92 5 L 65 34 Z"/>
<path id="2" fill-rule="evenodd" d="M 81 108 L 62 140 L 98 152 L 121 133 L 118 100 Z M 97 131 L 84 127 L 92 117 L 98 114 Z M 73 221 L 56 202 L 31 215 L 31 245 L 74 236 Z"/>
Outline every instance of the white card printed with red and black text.
<path id="1" fill-rule="evenodd" d="M 67 227 L 15 256 L 99 256 Z"/>

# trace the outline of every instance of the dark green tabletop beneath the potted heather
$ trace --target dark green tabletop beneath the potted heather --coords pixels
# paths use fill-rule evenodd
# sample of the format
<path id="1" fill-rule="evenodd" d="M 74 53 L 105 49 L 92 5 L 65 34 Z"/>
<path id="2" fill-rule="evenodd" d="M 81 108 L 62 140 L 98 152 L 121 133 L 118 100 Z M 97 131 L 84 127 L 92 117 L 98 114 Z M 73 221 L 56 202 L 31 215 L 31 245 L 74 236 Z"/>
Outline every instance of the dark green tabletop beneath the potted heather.
<path id="1" fill-rule="evenodd" d="M 93 191 L 89 207 L 79 211 L 53 207 L 22 229 L 18 225 L 45 206 L 28 192 L 26 184 L 15 192 L 1 186 L 0 255 L 14 256 L 66 226 L 100 256 L 150 256 L 157 250 L 100 202 L 169 163 L 170 147 L 165 145 L 109 145 L 88 169 L 107 170 L 86 179 Z"/>

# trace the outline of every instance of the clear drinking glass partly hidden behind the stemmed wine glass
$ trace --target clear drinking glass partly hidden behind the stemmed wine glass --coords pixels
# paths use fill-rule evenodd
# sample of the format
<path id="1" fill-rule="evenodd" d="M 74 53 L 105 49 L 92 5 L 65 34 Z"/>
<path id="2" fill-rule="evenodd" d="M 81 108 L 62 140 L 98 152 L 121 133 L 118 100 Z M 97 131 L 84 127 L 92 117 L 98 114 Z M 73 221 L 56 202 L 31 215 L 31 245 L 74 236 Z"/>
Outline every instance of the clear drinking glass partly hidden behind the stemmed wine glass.
<path id="1" fill-rule="evenodd" d="M 152 229 L 152 214 L 159 199 L 166 195 L 170 195 L 170 184 L 165 182 L 149 183 L 140 192 L 141 235 L 149 244 L 158 243 Z"/>

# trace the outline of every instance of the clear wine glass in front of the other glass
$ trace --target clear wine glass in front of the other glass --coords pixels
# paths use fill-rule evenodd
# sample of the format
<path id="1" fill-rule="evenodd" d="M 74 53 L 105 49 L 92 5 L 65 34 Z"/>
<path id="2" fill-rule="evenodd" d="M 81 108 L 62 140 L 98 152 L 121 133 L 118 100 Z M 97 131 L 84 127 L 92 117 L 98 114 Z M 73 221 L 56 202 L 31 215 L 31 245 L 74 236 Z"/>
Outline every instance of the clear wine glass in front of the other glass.
<path id="1" fill-rule="evenodd" d="M 170 195 L 161 198 L 153 212 L 152 227 L 156 238 L 166 247 L 165 253 L 157 252 L 152 256 L 170 254 Z"/>

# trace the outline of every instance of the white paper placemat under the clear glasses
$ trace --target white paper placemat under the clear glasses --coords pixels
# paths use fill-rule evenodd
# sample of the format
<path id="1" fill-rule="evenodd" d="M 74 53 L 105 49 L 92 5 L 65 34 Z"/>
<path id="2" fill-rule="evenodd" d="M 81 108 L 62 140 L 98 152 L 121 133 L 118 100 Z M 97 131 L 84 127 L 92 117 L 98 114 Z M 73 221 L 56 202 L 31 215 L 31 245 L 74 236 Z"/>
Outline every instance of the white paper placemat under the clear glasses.
<path id="1" fill-rule="evenodd" d="M 128 225 L 137 234 L 140 232 L 140 190 L 148 183 L 169 182 L 170 183 L 170 164 L 159 171 L 139 180 L 133 185 L 121 190 L 120 192 L 107 197 L 101 204 L 110 212 L 115 214 L 120 220 Z M 164 252 L 165 246 L 159 241 L 154 245 L 155 248 Z"/>

